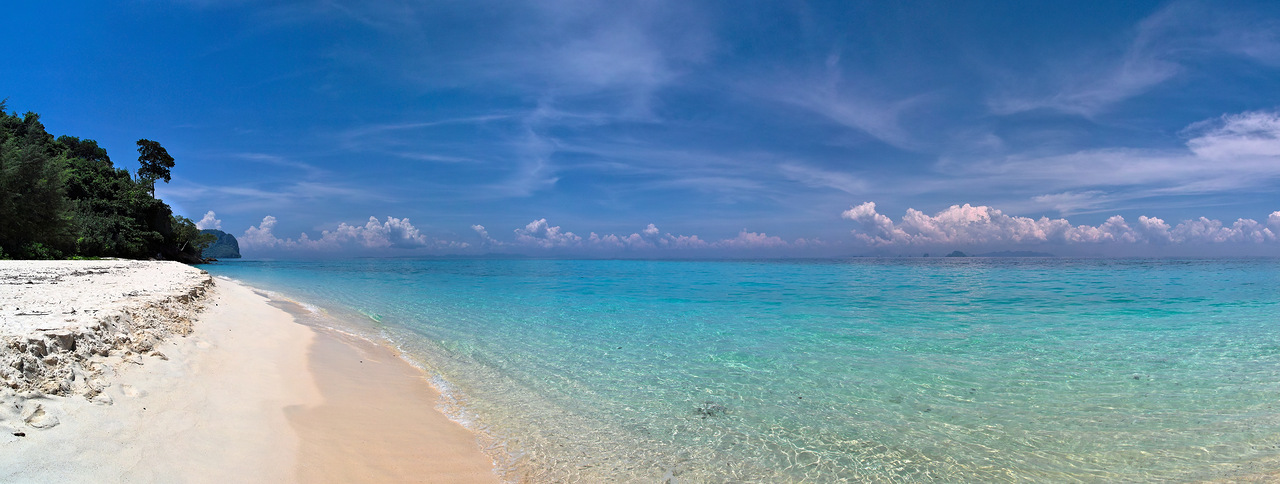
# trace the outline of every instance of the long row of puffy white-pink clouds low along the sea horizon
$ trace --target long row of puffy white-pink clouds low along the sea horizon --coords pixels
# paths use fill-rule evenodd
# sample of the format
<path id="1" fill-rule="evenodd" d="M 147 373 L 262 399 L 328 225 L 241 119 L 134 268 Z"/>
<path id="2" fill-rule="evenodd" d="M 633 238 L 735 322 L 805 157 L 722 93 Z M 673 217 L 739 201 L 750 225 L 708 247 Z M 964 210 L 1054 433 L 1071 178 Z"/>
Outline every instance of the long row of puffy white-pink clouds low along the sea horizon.
<path id="1" fill-rule="evenodd" d="M 211 219 L 214 213 L 205 218 Z M 388 216 L 385 222 L 370 216 L 365 225 L 342 223 L 334 230 L 323 230 L 319 238 L 306 233 L 297 238 L 280 238 L 274 233 L 276 219 L 262 218 L 241 236 L 241 246 L 247 252 L 285 254 L 310 256 L 338 251 L 378 251 L 385 248 L 431 248 L 434 254 L 492 254 L 513 252 L 530 255 L 608 255 L 608 254 L 773 254 L 795 255 L 800 250 L 831 252 L 832 250 L 914 250 L 914 248 L 1108 248 L 1108 247 L 1178 247 L 1203 250 L 1206 246 L 1252 246 L 1262 248 L 1252 254 L 1272 254 L 1280 250 L 1280 210 L 1265 220 L 1236 219 L 1224 223 L 1208 218 L 1188 219 L 1171 225 L 1162 219 L 1140 215 L 1129 223 L 1112 215 L 1100 225 L 1073 225 L 1066 219 L 1006 215 L 989 206 L 952 205 L 934 215 L 908 209 L 899 222 L 876 210 L 876 202 L 863 202 L 845 210 L 841 216 L 855 223 L 849 241 L 820 241 L 796 238 L 792 241 L 765 233 L 742 229 L 737 237 L 707 241 L 699 236 L 663 233 L 657 225 L 626 234 L 596 234 L 582 237 L 552 225 L 547 219 L 532 220 L 512 230 L 509 239 L 494 238 L 484 225 L 471 225 L 479 241 L 431 238 L 410 224 L 408 219 Z M 1151 252 L 1147 252 L 1151 254 Z"/>

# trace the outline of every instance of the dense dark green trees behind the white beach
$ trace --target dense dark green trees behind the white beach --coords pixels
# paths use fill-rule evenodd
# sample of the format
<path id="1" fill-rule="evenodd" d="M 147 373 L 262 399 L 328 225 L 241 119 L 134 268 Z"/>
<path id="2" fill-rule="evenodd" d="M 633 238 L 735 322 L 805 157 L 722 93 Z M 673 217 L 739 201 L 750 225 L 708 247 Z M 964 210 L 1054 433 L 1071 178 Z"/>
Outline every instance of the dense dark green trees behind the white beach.
<path id="1" fill-rule="evenodd" d="M 200 264 L 216 237 L 155 197 L 174 159 L 138 140 L 137 177 L 93 140 L 45 132 L 0 100 L 0 259 L 166 259 Z"/>

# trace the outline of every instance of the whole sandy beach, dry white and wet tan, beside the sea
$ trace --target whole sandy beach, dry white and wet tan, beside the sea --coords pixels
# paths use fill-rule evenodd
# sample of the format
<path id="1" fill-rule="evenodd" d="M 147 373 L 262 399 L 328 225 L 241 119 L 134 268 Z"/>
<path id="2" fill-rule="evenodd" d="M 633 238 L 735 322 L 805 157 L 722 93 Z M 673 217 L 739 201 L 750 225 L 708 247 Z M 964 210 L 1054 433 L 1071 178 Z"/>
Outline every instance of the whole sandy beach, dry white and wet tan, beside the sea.
<path id="1" fill-rule="evenodd" d="M 420 370 L 210 280 L 0 261 L 0 481 L 497 481 Z"/>

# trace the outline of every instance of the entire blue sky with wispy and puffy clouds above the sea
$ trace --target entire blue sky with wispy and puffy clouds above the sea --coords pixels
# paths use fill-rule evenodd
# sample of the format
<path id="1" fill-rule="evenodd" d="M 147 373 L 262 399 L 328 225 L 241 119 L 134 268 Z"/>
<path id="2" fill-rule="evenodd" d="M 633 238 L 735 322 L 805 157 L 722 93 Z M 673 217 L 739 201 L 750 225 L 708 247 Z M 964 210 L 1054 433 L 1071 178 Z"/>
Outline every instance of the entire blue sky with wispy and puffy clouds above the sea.
<path id="1" fill-rule="evenodd" d="M 1280 255 L 1280 4 L 27 1 L 246 256 Z"/>

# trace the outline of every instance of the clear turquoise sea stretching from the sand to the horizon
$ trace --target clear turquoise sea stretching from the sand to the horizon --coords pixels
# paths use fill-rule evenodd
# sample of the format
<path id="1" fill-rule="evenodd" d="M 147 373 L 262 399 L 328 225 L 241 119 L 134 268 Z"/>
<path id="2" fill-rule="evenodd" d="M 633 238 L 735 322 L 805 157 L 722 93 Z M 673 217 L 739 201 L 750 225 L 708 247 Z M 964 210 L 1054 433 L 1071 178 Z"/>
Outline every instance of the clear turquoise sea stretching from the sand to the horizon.
<path id="1" fill-rule="evenodd" d="M 1176 481 L 1280 469 L 1275 259 L 206 269 L 393 341 L 436 375 L 443 407 L 485 435 L 508 479 Z"/>

